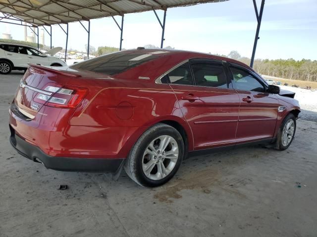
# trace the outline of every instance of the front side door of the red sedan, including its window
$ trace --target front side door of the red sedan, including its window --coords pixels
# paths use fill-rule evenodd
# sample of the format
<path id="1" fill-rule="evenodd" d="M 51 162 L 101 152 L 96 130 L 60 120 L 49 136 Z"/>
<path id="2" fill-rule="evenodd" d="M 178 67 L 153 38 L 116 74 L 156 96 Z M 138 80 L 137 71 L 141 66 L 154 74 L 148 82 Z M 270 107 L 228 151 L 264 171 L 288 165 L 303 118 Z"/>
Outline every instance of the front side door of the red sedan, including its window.
<path id="1" fill-rule="evenodd" d="M 237 144 L 272 138 L 277 121 L 278 100 L 251 70 L 229 64 L 233 87 L 240 98 Z"/>

